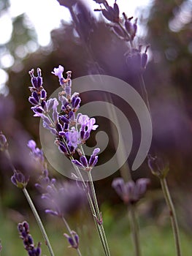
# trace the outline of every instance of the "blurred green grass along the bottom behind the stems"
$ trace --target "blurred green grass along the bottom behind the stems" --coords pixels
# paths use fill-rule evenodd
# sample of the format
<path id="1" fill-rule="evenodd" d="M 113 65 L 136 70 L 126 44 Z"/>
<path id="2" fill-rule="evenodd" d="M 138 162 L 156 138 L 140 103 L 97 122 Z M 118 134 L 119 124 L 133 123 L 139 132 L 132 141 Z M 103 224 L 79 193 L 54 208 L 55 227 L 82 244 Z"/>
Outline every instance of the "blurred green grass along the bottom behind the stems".
<path id="1" fill-rule="evenodd" d="M 134 256 L 134 249 L 131 244 L 128 218 L 125 210 L 114 211 L 114 208 L 102 207 L 104 224 L 107 238 L 110 244 L 112 256 Z M 80 211 L 73 217 L 69 217 L 73 230 L 80 236 L 80 250 L 82 256 L 104 255 L 98 239 L 93 220 L 88 211 Z M 24 220 L 24 219 L 23 219 Z M 22 220 L 22 221 L 23 221 Z M 33 217 L 26 220 L 30 225 L 30 233 L 35 244 L 42 241 L 41 233 Z M 70 249 L 63 233 L 66 232 L 63 223 L 55 217 L 46 217 L 47 234 L 53 246 L 55 256 L 77 255 L 74 249 Z M 174 240 L 169 222 L 166 225 L 154 225 L 151 220 L 139 218 L 140 238 L 142 242 L 142 255 L 146 256 L 174 256 Z M 9 218 L 9 214 L 0 216 L 0 238 L 3 246 L 1 256 L 25 256 L 27 252 L 23 249 L 23 242 L 18 237 L 17 223 Z M 191 256 L 191 236 L 181 230 L 181 245 L 184 256 Z M 42 255 L 49 255 L 45 243 L 42 243 Z"/>

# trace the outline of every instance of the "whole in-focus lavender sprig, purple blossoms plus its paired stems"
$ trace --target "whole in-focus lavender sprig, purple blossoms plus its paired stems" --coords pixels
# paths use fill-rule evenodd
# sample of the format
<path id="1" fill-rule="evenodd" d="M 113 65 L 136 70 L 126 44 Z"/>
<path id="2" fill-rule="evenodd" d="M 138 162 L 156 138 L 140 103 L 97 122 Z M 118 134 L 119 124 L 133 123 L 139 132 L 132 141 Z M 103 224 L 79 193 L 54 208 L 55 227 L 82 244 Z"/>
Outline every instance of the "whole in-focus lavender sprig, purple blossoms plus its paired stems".
<path id="1" fill-rule="evenodd" d="M 91 170 L 98 161 L 97 154 L 99 154 L 100 149 L 95 148 L 91 157 L 87 159 L 82 148 L 82 145 L 90 138 L 91 130 L 95 130 L 98 125 L 95 124 L 95 118 L 89 118 L 82 113 L 78 113 L 76 116 L 76 112 L 80 108 L 80 95 L 77 92 L 72 94 L 72 72 L 66 72 L 66 79 L 63 76 L 63 72 L 64 67 L 61 65 L 58 68 L 54 68 L 52 72 L 53 75 L 58 76 L 59 83 L 63 89 L 58 94 L 58 100 L 61 102 L 61 110 L 59 112 L 58 100 L 56 98 L 47 99 L 47 93 L 42 86 L 42 76 L 39 68 L 37 69 L 37 77 L 34 76 L 34 69 L 31 69 L 29 72 L 32 86 L 29 88 L 31 97 L 28 98 L 28 101 L 33 105 L 31 110 L 33 110 L 34 116 L 42 118 L 43 127 L 49 129 L 55 135 L 55 144 L 58 146 L 61 154 L 71 160 L 75 171 L 75 173 L 72 173 L 72 177 L 82 182 L 82 188 L 88 197 L 104 253 L 105 255 L 110 255 L 91 176 Z M 78 154 L 79 159 L 74 159 L 75 153 Z M 87 173 L 91 188 L 89 188 L 89 185 L 82 177 L 80 169 Z"/>

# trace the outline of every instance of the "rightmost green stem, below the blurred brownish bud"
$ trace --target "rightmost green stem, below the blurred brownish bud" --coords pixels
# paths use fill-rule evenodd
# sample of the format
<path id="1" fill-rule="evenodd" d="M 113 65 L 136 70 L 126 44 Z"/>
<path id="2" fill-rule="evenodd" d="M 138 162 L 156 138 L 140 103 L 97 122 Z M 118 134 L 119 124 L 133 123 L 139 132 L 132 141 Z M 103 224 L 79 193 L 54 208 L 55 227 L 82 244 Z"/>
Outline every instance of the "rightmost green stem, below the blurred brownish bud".
<path id="1" fill-rule="evenodd" d="M 169 208 L 169 215 L 172 222 L 172 230 L 174 234 L 174 242 L 176 246 L 177 256 L 181 256 L 179 227 L 177 224 L 177 217 L 174 209 L 174 204 L 172 202 L 172 197 L 169 192 L 169 187 L 167 186 L 167 183 L 166 183 L 166 178 L 160 178 L 160 181 L 161 181 L 162 190 L 164 192 L 164 197 L 166 200 L 166 205 Z"/>

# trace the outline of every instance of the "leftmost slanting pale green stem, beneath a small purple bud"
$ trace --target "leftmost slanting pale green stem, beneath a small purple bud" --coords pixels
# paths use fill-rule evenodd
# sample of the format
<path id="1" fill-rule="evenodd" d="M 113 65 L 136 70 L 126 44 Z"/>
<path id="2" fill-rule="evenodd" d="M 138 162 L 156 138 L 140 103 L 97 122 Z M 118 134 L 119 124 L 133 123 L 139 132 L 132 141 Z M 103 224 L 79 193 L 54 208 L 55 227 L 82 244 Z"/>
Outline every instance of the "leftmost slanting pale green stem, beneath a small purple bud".
<path id="1" fill-rule="evenodd" d="M 47 245 L 47 247 L 48 247 L 48 249 L 49 249 L 49 251 L 50 251 L 50 255 L 51 255 L 51 256 L 54 256 L 54 252 L 53 252 L 53 249 L 52 249 L 52 247 L 51 247 L 51 245 L 50 245 L 50 241 L 49 241 L 49 238 L 48 238 L 47 233 L 46 233 L 46 231 L 45 231 L 45 228 L 44 228 L 44 226 L 42 225 L 42 221 L 41 221 L 41 219 L 40 219 L 40 217 L 39 217 L 39 214 L 37 213 L 37 210 L 36 210 L 36 208 L 35 208 L 35 206 L 34 206 L 34 203 L 33 203 L 33 201 L 31 200 L 31 197 L 30 197 L 30 195 L 28 194 L 28 191 L 27 191 L 27 189 L 26 189 L 25 187 L 23 188 L 23 193 L 24 193 L 24 195 L 26 196 L 26 199 L 28 200 L 29 206 L 31 207 L 31 211 L 33 212 L 34 217 L 35 217 L 35 219 L 37 220 L 37 224 L 39 225 L 39 228 L 40 228 L 40 230 L 42 231 L 42 236 L 43 236 L 43 238 L 45 238 L 45 243 L 46 243 L 46 245 Z"/>

